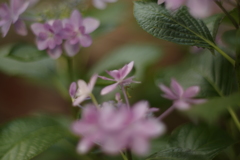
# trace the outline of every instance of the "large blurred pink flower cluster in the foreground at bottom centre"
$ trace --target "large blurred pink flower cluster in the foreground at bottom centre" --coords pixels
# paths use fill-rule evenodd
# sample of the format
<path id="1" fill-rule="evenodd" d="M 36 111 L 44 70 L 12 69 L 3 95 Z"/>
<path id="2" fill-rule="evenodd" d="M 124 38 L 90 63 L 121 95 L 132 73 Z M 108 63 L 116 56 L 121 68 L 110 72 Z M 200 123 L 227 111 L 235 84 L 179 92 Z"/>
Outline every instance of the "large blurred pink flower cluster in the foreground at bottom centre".
<path id="1" fill-rule="evenodd" d="M 86 153 L 94 144 L 108 154 L 117 154 L 130 148 L 138 155 L 145 155 L 149 140 L 164 133 L 165 125 L 153 117 L 146 117 L 147 102 L 139 102 L 131 109 L 125 105 L 119 108 L 104 103 L 101 109 L 88 105 L 82 118 L 72 125 L 76 135 L 82 137 L 77 150 Z"/>

